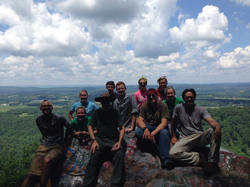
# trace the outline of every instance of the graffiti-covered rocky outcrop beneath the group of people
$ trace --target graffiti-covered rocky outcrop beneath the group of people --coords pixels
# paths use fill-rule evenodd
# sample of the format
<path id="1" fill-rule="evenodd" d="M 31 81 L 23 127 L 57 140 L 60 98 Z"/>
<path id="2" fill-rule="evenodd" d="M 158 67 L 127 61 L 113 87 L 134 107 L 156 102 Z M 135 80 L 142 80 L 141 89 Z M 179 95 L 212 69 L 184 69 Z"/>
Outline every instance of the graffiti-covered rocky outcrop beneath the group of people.
<path id="1" fill-rule="evenodd" d="M 203 175 L 202 168 L 194 166 L 178 166 L 173 170 L 162 170 L 158 156 L 138 150 L 133 133 L 126 136 L 127 152 L 125 166 L 127 181 L 125 186 L 206 186 L 206 187 L 243 187 L 250 186 L 250 159 L 221 150 L 221 173 L 210 177 Z M 77 144 L 77 142 L 75 142 Z M 70 148 L 72 149 L 72 147 Z M 69 150 L 68 150 L 69 152 Z M 71 161 L 65 161 L 60 187 L 81 186 L 84 179 L 84 167 L 79 163 L 87 162 L 89 145 L 71 150 Z M 75 154 L 75 157 L 73 156 Z M 74 157 L 74 158 L 73 158 Z M 67 158 L 69 159 L 69 158 Z M 74 161 L 74 159 L 76 161 Z M 100 172 L 98 185 L 109 186 L 113 166 L 105 162 Z"/>

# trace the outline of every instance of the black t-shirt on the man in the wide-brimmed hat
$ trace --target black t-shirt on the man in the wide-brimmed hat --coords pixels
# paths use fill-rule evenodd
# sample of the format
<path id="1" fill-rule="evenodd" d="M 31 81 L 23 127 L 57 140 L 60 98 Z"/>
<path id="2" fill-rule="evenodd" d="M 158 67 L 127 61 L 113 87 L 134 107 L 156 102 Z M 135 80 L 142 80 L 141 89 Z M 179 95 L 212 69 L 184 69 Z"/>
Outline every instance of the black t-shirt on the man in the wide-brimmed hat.
<path id="1" fill-rule="evenodd" d="M 111 108 L 104 112 L 99 108 L 94 112 L 89 125 L 93 129 L 96 127 L 97 133 L 95 136 L 98 138 L 97 140 L 109 142 L 112 144 L 110 147 L 112 147 L 119 140 L 118 128 L 123 125 L 123 122 L 119 111 L 116 109 Z M 98 141 L 98 143 L 100 142 Z"/>

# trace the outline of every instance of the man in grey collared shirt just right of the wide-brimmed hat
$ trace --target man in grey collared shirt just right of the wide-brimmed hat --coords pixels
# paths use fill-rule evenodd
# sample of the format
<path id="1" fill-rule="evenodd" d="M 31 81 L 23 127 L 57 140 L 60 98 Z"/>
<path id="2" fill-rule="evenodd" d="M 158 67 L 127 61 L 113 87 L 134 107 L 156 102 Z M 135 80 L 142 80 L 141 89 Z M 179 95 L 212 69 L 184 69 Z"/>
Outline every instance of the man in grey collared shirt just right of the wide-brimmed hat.
<path id="1" fill-rule="evenodd" d="M 125 132 L 130 133 L 134 130 L 138 112 L 135 97 L 126 94 L 126 85 L 122 81 L 116 83 L 116 91 L 119 94 L 119 98 L 114 101 L 113 107 L 117 109 L 122 116 L 126 128 Z"/>

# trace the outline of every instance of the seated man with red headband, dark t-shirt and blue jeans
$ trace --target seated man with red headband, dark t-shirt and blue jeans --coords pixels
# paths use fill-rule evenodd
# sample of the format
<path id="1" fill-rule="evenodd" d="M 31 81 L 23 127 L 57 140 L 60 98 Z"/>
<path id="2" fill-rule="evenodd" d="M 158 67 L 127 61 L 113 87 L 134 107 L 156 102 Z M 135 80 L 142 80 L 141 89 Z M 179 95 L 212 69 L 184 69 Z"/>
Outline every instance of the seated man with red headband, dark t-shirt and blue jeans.
<path id="1" fill-rule="evenodd" d="M 167 129 L 169 118 L 168 106 L 158 101 L 157 91 L 150 88 L 147 91 L 148 102 L 140 110 L 139 127 L 135 130 L 138 140 L 150 140 L 157 146 L 162 162 L 162 169 L 171 170 L 174 163 L 169 159 L 171 135 Z"/>

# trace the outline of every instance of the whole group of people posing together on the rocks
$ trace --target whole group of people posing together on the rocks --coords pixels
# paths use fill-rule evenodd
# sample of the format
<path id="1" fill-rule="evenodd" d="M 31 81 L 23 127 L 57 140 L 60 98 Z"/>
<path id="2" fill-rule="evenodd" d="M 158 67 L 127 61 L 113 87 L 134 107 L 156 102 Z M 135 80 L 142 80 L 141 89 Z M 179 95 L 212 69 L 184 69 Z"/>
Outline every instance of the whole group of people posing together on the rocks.
<path id="1" fill-rule="evenodd" d="M 63 116 L 52 113 L 51 102 L 44 100 L 40 106 L 43 115 L 36 120 L 43 135 L 42 145 L 36 151 L 22 186 L 34 185 L 33 181 L 37 176 L 41 176 L 41 187 L 46 186 L 49 179 L 52 186 L 56 183 L 51 177 L 51 170 L 63 155 L 70 135 L 80 140 L 87 137 L 92 141 L 83 186 L 97 185 L 98 175 L 105 161 L 114 165 L 111 186 L 124 185 L 126 141 L 123 138 L 131 131 L 135 131 L 138 142 L 158 150 L 162 169 L 171 170 L 179 162 L 201 166 L 206 175 L 220 172 L 218 162 L 221 129 L 218 122 L 206 109 L 194 103 L 194 89 L 185 89 L 182 100 L 175 97 L 173 87 L 167 87 L 165 76 L 160 77 L 157 83 L 158 89 L 147 89 L 147 79 L 140 77 L 139 90 L 135 94 L 127 94 L 124 82 L 115 84 L 108 81 L 108 92 L 95 98 L 96 102 L 101 103 L 100 108 L 87 100 L 86 90 L 81 90 L 81 101 L 74 103 L 68 113 L 70 124 Z M 76 119 L 73 118 L 74 112 Z M 211 126 L 206 131 L 202 128 L 203 119 Z M 63 127 L 66 128 L 65 136 Z M 208 158 L 201 152 L 193 151 L 195 147 L 205 147 L 208 144 Z"/>

